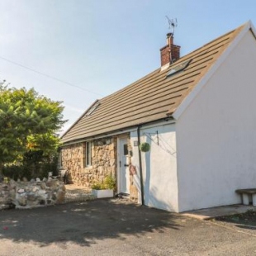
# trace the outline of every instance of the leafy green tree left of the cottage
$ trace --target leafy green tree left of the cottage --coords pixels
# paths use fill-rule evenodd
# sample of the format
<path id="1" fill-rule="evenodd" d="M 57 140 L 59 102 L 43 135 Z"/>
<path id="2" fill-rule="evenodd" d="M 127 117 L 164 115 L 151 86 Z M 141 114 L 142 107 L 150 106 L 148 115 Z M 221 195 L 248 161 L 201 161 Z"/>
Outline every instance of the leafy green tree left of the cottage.
<path id="1" fill-rule="evenodd" d="M 65 122 L 61 103 L 39 95 L 33 88 L 0 85 L 0 168 L 21 162 L 29 152 L 50 156 L 56 151 L 56 132 Z"/>

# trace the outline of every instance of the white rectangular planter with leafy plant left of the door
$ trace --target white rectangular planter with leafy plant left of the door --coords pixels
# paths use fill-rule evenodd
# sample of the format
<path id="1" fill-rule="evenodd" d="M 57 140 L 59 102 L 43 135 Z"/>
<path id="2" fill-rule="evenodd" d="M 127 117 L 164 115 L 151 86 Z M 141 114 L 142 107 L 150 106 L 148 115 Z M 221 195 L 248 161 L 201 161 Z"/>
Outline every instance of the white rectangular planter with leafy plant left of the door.
<path id="1" fill-rule="evenodd" d="M 102 183 L 94 183 L 92 185 L 92 195 L 97 198 L 113 197 L 116 187 L 116 179 L 111 175 L 104 178 Z"/>

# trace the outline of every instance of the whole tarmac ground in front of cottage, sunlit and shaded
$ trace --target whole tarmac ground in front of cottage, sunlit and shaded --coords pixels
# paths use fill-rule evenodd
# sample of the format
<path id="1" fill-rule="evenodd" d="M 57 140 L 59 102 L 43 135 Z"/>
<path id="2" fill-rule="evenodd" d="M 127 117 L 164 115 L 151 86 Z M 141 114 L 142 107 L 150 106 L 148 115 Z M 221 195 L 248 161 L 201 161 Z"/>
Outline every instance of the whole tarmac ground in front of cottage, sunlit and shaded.
<path id="1" fill-rule="evenodd" d="M 121 198 L 0 211 L 0 255 L 256 255 L 256 225 Z"/>

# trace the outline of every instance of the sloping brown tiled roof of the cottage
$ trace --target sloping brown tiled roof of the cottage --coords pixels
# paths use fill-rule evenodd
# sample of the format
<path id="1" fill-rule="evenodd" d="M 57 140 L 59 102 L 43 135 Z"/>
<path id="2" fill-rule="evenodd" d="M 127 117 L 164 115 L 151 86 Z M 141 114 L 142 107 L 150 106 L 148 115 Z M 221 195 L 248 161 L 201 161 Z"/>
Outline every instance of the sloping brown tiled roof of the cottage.
<path id="1" fill-rule="evenodd" d="M 168 69 L 157 69 L 126 88 L 94 102 L 64 133 L 61 141 L 66 143 L 104 135 L 172 116 L 244 26 L 183 56 Z M 191 61 L 186 69 L 167 77 L 170 70 L 188 60 Z M 92 107 L 95 108 L 93 111 Z M 92 113 L 88 115 L 88 111 Z"/>

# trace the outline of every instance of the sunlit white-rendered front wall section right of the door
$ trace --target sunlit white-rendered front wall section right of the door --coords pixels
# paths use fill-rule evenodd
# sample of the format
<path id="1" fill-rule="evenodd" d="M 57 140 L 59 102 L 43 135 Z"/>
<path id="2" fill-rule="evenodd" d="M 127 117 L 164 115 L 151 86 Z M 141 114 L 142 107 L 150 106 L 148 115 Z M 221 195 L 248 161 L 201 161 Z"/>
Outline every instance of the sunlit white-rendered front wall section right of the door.
<path id="1" fill-rule="evenodd" d="M 138 140 L 137 131 L 130 133 L 130 140 L 133 152 L 131 162 L 138 172 L 134 180 L 140 190 L 139 150 L 134 145 Z M 145 205 L 166 211 L 178 211 L 175 125 L 142 127 L 140 142 L 148 142 L 150 145 L 149 152 L 141 152 Z"/>

